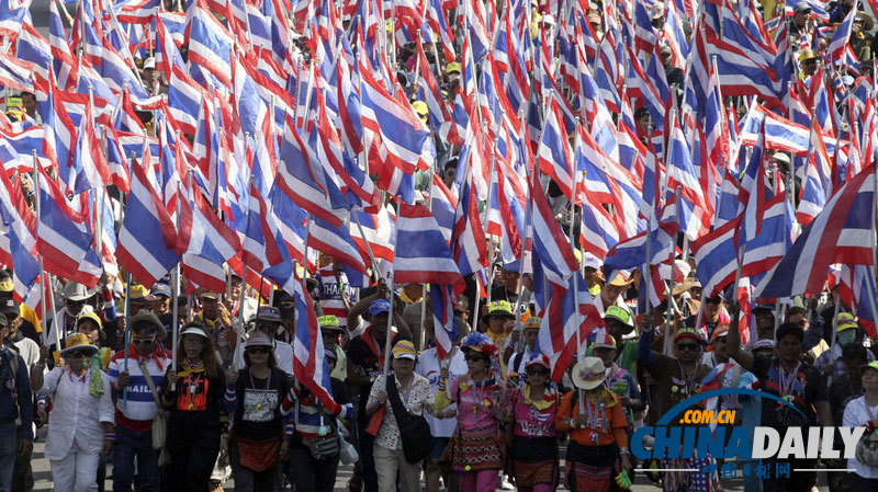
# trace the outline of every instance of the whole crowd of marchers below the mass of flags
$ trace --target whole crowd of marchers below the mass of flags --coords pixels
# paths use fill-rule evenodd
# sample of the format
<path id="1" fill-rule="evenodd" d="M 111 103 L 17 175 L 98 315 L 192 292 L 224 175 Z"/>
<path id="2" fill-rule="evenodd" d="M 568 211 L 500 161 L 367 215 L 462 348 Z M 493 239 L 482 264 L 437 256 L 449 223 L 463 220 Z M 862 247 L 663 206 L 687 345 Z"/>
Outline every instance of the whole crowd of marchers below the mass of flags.
<path id="1" fill-rule="evenodd" d="M 743 346 L 738 323 L 729 322 L 738 319 L 736 304 L 708 297 L 701 305 L 697 282 L 674 290 L 682 309 L 668 324 L 664 306 L 634 316 L 631 278 L 606 282 L 586 266 L 605 327 L 583 341 L 583 358 L 574 356 L 555 382 L 537 343 L 541 320 L 528 310 L 530 275 L 495 268 L 499 299 L 474 321 L 461 296 L 460 335 L 440 358 L 429 300 L 430 316 L 420 316 L 420 285 L 395 293 L 391 313 L 383 284 L 351 288 L 339 264 L 322 258 L 307 285 L 320 314 L 333 408 L 293 376 L 296 314 L 282 291 L 268 302 L 233 275 L 227 293 L 181 297 L 175 357 L 166 283 L 123 289 L 108 276 L 97 290 L 58 285 L 56 328 L 41 327 L 32 309 L 12 300 L 10 275 L 0 273 L 0 490 L 33 487 L 31 453 L 44 425 L 55 490 L 76 492 L 103 490 L 108 469 L 114 491 L 209 491 L 233 478 L 236 491 L 289 483 L 329 492 L 340 464 L 356 464 L 351 491 L 419 491 L 421 482 L 428 491 L 607 491 L 629 488 L 639 474 L 668 491 L 721 490 L 722 478 L 736 474 L 729 462 L 638 461 L 629 450 L 634 430 L 707 390 L 709 380 L 718 381 L 711 388 L 759 388 L 795 405 L 722 397 L 712 409 L 736 410 L 730 426 L 876 425 L 876 345 L 845 307 L 836 309 L 835 291 L 806 306 L 797 299 L 784 319 L 774 306 L 758 306 L 756 336 Z M 131 297 L 121 299 L 126 290 Z M 127 317 L 115 309 L 124 304 Z M 330 310 L 346 316 L 325 314 Z M 48 333 L 64 342 L 44 346 Z M 878 448 L 867 440 L 855 458 L 823 464 L 854 470 L 830 472 L 831 490 L 876 490 Z M 815 472 L 757 465 L 767 471 L 744 473 L 747 491 L 815 485 Z M 796 460 L 792 468 L 818 464 Z M 666 469 L 698 471 L 653 471 Z"/>

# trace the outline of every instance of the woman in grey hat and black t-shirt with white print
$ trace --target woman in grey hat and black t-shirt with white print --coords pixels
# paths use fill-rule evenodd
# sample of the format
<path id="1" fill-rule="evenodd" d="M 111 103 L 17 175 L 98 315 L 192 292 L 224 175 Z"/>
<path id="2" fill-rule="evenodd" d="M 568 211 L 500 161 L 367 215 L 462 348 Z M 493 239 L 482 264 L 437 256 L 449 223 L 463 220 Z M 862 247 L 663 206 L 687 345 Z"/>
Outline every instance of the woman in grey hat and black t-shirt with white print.
<path id="1" fill-rule="evenodd" d="M 226 411 L 233 415 L 229 459 L 235 492 L 280 491 L 278 460 L 290 449 L 283 431 L 292 410 L 292 385 L 278 368 L 272 342 L 258 332 L 247 340 L 244 364 L 244 369 L 229 375 L 226 389 Z"/>

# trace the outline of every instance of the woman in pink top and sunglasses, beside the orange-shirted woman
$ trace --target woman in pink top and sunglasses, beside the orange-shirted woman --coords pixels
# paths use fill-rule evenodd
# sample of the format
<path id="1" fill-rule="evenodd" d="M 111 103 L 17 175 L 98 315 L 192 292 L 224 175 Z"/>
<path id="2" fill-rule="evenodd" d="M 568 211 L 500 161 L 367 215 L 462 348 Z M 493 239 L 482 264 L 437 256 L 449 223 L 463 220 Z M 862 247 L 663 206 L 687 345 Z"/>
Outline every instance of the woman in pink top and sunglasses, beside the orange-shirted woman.
<path id="1" fill-rule="evenodd" d="M 514 425 L 511 464 L 520 492 L 551 492 L 558 485 L 559 392 L 549 379 L 549 358 L 533 354 L 525 363 L 527 380 L 509 397 L 507 425 Z"/>

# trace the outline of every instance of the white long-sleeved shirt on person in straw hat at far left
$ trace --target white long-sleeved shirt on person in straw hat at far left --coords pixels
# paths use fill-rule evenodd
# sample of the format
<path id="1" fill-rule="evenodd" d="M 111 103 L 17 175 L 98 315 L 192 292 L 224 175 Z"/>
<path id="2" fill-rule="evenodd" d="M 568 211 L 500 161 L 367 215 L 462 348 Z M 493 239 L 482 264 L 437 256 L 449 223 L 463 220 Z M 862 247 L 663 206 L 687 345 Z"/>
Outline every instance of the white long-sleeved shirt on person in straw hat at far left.
<path id="1" fill-rule="evenodd" d="M 37 392 L 53 397 L 45 450 L 48 459 L 67 456 L 74 439 L 85 453 L 97 454 L 103 447 L 105 434 L 101 423 L 112 424 L 115 416 L 110 378 L 102 375 L 103 394 L 92 397 L 89 394 L 89 371 L 81 378 L 74 377 L 69 369 L 55 367 L 43 379 L 43 387 Z"/>

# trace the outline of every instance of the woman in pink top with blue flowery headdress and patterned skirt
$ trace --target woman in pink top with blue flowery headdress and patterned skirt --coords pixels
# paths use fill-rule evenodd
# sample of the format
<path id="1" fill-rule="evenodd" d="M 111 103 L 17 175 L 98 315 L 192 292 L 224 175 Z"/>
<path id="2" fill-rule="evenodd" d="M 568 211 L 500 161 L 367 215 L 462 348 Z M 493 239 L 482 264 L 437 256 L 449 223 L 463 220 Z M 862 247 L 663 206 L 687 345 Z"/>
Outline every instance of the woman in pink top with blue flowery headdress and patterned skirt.
<path id="1" fill-rule="evenodd" d="M 461 350 L 469 373 L 452 379 L 447 389 L 441 379 L 436 393 L 436 410 L 458 404 L 458 430 L 440 461 L 460 473 L 461 492 L 494 492 L 506 460 L 499 428 L 505 386 L 491 370 L 497 346 L 484 333 L 474 332 L 463 339 Z"/>

